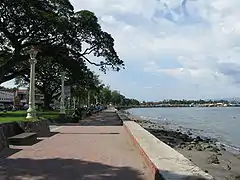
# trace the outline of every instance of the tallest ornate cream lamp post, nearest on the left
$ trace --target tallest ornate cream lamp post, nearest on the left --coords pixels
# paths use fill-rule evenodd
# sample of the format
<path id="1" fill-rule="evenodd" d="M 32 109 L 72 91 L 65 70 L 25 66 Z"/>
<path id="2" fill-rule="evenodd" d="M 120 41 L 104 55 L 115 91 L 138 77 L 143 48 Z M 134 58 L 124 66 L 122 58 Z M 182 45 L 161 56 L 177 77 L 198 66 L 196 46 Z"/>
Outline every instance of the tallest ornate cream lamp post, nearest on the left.
<path id="1" fill-rule="evenodd" d="M 36 108 L 35 108 L 35 65 L 37 63 L 36 56 L 38 50 L 32 48 L 29 51 L 30 54 L 30 85 L 29 85 L 29 103 L 27 110 L 26 119 L 36 118 Z"/>

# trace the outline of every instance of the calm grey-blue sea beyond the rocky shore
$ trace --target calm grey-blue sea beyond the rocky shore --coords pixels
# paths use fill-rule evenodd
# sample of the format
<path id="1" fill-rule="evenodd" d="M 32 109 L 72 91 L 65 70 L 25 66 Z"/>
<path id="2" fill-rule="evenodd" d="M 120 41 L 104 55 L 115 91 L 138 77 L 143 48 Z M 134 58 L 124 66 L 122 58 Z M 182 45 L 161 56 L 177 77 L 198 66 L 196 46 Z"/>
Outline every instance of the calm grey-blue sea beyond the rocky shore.
<path id="1" fill-rule="evenodd" d="M 240 151 L 240 108 L 136 108 L 128 112 L 170 129 L 214 138 Z"/>

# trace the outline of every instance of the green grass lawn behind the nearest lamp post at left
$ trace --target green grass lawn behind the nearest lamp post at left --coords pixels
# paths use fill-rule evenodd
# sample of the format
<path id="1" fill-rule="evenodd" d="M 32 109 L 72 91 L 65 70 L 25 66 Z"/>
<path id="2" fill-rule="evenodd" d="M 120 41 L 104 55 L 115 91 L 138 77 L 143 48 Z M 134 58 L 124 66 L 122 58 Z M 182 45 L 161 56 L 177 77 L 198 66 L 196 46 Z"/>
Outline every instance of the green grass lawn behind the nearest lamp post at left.
<path id="1" fill-rule="evenodd" d="M 0 112 L 0 123 L 12 122 L 12 121 L 26 121 L 26 111 L 8 111 L 6 113 Z M 59 112 L 57 111 L 46 111 L 46 112 L 37 112 L 37 116 L 47 119 L 57 119 Z"/>

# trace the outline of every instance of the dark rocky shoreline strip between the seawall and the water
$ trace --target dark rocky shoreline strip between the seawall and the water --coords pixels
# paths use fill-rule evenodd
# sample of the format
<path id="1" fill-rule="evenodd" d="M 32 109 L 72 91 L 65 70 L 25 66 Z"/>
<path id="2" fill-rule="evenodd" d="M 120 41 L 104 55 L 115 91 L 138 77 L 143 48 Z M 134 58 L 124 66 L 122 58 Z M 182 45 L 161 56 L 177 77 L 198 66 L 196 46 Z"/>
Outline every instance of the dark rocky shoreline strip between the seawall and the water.
<path id="1" fill-rule="evenodd" d="M 135 121 L 159 140 L 179 151 L 216 180 L 240 180 L 240 154 L 228 152 L 216 140 L 170 130 L 166 126 L 141 119 L 123 111 L 129 120 Z"/>

